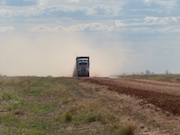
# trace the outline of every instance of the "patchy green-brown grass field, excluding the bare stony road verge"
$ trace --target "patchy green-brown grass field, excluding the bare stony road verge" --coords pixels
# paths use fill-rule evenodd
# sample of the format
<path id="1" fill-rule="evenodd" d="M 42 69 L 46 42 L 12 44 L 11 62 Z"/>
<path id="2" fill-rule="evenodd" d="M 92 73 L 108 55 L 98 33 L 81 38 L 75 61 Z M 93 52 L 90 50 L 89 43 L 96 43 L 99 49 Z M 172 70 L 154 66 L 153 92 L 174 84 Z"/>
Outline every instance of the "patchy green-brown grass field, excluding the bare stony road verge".
<path id="1" fill-rule="evenodd" d="M 100 91 L 72 78 L 0 77 L 0 134 L 133 135 Z"/>

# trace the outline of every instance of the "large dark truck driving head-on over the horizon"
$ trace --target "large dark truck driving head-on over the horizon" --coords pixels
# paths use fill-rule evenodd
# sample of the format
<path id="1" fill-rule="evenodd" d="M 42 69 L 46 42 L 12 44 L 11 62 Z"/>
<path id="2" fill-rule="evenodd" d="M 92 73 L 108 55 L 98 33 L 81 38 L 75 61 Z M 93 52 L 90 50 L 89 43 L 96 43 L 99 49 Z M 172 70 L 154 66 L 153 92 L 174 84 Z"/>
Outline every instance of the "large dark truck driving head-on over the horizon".
<path id="1" fill-rule="evenodd" d="M 80 56 L 76 57 L 76 76 L 77 77 L 89 77 L 89 57 Z"/>

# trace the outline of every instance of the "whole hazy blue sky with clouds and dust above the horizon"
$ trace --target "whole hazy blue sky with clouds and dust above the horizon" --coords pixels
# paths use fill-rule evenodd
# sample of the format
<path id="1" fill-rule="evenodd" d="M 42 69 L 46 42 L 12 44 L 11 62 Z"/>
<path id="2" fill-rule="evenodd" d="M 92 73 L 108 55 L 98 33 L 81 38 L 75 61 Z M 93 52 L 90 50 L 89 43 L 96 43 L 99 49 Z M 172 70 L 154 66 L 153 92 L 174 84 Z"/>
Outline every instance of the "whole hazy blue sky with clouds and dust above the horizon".
<path id="1" fill-rule="evenodd" d="M 179 0 L 0 0 L 0 74 L 180 73 Z"/>

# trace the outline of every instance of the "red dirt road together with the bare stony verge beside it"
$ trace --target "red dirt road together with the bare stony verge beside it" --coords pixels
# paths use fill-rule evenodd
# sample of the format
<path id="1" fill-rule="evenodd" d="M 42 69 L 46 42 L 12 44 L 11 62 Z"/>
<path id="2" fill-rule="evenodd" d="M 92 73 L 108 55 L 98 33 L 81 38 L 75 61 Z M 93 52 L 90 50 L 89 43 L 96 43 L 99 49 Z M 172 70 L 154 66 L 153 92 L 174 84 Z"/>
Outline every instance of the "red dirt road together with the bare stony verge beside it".
<path id="1" fill-rule="evenodd" d="M 127 119 L 138 121 L 139 135 L 180 134 L 180 84 L 144 79 L 83 78 L 118 93 L 117 106 L 128 108 Z M 129 118 L 128 118 L 129 117 Z"/>

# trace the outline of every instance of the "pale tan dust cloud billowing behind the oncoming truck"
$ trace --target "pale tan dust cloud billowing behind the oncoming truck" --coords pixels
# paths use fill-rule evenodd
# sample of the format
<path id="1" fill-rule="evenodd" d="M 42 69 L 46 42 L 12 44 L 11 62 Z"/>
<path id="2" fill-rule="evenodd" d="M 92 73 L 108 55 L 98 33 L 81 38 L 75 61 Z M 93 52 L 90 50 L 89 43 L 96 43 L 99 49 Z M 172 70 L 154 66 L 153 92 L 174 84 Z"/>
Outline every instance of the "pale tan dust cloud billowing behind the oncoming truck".
<path id="1" fill-rule="evenodd" d="M 118 44 L 100 44 L 77 34 L 37 34 L 0 37 L 0 74 L 67 76 L 77 56 L 90 57 L 90 76 L 118 74 L 131 51 Z"/>

